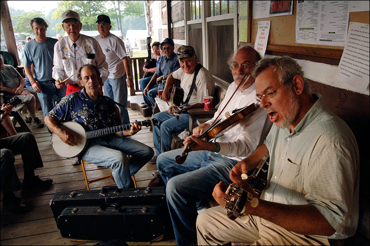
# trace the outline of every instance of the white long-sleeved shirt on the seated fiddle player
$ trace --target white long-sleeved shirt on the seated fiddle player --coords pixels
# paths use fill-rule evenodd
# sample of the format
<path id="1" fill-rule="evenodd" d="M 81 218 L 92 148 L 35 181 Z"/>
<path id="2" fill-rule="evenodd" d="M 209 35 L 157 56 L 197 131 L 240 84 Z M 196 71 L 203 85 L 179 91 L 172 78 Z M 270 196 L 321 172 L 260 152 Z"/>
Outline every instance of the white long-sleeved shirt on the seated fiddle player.
<path id="1" fill-rule="evenodd" d="M 219 119 L 225 120 L 229 115 L 233 114 L 232 111 L 234 109 L 257 103 L 256 88 L 253 83 L 243 92 L 238 90 L 226 108 L 222 111 L 236 88 L 237 85 L 235 82 L 229 85 L 225 98 L 219 105 L 215 116 L 213 119 L 207 121 L 207 124 L 211 125 L 220 112 L 221 116 Z M 221 151 L 219 151 L 218 154 L 233 160 L 241 161 L 252 154 L 263 143 L 272 124 L 268 115 L 264 109 L 258 107 L 250 117 L 248 116 L 233 124 L 231 128 L 223 133 L 223 136 L 216 140 L 221 147 Z"/>

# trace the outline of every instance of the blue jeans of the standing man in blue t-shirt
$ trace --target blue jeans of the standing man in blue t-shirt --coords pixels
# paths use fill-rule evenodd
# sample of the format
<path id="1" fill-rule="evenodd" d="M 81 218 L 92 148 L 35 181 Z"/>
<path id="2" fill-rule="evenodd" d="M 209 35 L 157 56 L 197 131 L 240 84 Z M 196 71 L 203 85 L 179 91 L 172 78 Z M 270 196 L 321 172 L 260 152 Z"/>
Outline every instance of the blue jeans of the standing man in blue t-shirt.
<path id="1" fill-rule="evenodd" d="M 66 96 L 67 87 L 57 89 L 54 82 L 37 81 L 41 87 L 41 93 L 37 93 L 38 100 L 40 101 L 42 113 L 45 115 L 54 108 L 55 98 L 57 96 L 60 99 Z M 32 87 L 31 87 L 31 90 Z"/>

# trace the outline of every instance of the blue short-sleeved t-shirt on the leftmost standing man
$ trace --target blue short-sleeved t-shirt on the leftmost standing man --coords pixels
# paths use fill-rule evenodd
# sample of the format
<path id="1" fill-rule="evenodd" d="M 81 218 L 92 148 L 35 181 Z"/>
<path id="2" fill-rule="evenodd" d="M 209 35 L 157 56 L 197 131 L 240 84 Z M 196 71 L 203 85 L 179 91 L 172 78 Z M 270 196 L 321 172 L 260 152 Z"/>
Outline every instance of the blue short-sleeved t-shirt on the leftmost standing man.
<path id="1" fill-rule="evenodd" d="M 25 44 L 23 63 L 27 67 L 34 64 L 36 81 L 48 81 L 53 79 L 54 45 L 57 39 L 48 37 L 45 42 L 39 43 L 34 39 Z"/>

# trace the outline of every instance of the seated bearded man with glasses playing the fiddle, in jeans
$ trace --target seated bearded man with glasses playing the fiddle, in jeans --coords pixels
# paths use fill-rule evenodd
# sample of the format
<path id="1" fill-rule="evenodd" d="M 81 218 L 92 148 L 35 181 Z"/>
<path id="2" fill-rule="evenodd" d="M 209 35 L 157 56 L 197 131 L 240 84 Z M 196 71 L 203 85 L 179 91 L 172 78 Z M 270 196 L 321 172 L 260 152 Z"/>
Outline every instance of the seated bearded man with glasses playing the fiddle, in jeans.
<path id="1" fill-rule="evenodd" d="M 209 207 L 213 188 L 220 180 L 231 183 L 229 171 L 263 144 L 270 130 L 271 122 L 259 108 L 217 139 L 208 142 L 198 138 L 218 116 L 225 120 L 235 109 L 257 103 L 254 78 L 249 75 L 259 60 L 254 48 L 239 48 L 228 61 L 234 82 L 229 85 L 213 119 L 194 128 L 192 136 L 184 141 L 184 148 L 194 141 L 185 162 L 182 165 L 175 162 L 175 157 L 184 151 L 181 148 L 164 152 L 157 158 L 159 174 L 166 183 L 167 204 L 178 245 L 196 242 L 198 211 Z"/>

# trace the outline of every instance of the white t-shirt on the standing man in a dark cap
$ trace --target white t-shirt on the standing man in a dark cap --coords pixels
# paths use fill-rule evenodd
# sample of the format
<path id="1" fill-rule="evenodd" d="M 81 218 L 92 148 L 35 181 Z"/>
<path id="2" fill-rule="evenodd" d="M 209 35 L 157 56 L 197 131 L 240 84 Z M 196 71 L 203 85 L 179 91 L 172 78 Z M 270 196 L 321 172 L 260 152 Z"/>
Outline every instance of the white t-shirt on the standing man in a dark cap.
<path id="1" fill-rule="evenodd" d="M 106 38 L 97 35 L 95 39 L 106 55 L 106 62 L 108 63 L 109 70 L 108 78 L 122 77 L 126 72 L 122 59 L 127 56 L 125 44 L 122 39 L 111 33 Z"/>

